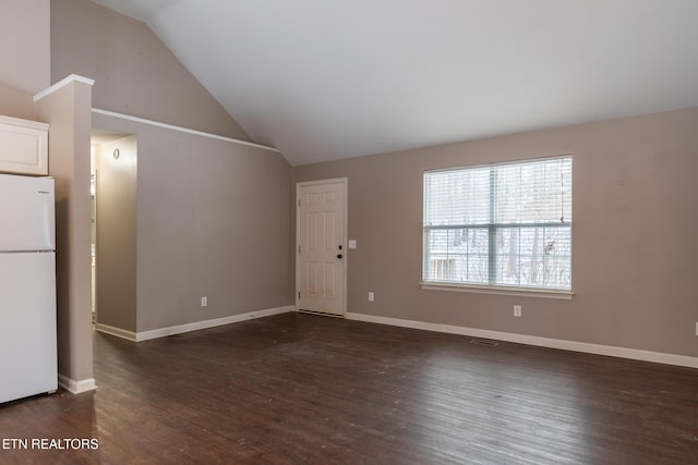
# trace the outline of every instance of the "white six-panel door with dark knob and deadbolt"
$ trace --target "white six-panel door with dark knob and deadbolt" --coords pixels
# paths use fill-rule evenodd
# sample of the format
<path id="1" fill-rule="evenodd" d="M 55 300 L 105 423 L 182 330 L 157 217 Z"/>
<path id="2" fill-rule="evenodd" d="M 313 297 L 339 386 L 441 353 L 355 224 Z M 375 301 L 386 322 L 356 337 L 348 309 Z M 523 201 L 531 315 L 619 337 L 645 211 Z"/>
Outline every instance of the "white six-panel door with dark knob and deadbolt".
<path id="1" fill-rule="evenodd" d="M 297 186 L 298 309 L 345 314 L 347 180 Z"/>

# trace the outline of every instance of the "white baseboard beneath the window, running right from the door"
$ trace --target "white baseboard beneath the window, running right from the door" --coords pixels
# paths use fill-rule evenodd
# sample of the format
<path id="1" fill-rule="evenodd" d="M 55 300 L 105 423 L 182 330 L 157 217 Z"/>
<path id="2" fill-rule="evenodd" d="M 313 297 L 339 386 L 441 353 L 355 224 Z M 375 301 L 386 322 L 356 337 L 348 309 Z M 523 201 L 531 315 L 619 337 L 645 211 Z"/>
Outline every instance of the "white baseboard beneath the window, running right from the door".
<path id="1" fill-rule="evenodd" d="M 424 321 L 404 320 L 399 318 L 376 317 L 373 315 L 354 313 L 347 313 L 346 318 L 349 320 L 365 321 L 378 325 L 389 325 L 402 328 L 421 329 L 425 331 L 445 332 L 449 334 L 468 335 L 472 338 L 494 339 L 497 341 L 516 342 L 518 344 L 537 345 L 540 347 L 561 348 L 564 351 L 582 352 L 594 355 L 607 355 L 611 357 L 629 358 L 633 360 L 653 362 L 658 364 L 698 368 L 698 357 L 689 357 L 686 355 L 664 354 L 661 352 L 640 351 L 637 348 L 616 347 L 613 345 L 591 344 L 588 342 L 540 338 L 535 335 L 490 331 L 450 325 L 429 323 Z"/>

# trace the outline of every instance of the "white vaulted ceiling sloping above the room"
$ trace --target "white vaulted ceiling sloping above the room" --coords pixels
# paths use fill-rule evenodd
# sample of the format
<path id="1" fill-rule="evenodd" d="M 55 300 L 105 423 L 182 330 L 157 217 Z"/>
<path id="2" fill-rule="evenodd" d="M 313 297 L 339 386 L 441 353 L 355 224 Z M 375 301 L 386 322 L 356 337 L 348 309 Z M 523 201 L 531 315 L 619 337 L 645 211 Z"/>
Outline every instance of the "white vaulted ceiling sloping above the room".
<path id="1" fill-rule="evenodd" d="M 94 0 L 294 166 L 698 105 L 697 0 Z"/>

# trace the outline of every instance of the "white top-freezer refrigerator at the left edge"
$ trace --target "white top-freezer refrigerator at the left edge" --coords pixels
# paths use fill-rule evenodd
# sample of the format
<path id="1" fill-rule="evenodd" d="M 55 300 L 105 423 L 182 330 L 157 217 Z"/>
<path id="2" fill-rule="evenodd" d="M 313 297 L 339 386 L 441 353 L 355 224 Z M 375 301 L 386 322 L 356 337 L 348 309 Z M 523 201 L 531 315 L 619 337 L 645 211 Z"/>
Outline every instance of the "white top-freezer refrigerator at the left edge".
<path id="1" fill-rule="evenodd" d="M 0 403 L 58 389 L 52 178 L 0 174 Z"/>

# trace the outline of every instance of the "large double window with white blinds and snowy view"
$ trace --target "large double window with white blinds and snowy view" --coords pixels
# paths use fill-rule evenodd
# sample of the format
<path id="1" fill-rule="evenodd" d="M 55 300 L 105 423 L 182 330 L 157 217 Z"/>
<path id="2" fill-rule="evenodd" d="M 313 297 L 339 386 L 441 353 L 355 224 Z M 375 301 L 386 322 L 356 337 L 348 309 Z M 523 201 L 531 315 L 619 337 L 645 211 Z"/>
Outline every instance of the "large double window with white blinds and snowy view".
<path id="1" fill-rule="evenodd" d="M 423 280 L 571 291 L 571 157 L 424 173 Z"/>

